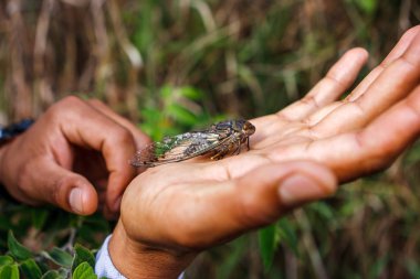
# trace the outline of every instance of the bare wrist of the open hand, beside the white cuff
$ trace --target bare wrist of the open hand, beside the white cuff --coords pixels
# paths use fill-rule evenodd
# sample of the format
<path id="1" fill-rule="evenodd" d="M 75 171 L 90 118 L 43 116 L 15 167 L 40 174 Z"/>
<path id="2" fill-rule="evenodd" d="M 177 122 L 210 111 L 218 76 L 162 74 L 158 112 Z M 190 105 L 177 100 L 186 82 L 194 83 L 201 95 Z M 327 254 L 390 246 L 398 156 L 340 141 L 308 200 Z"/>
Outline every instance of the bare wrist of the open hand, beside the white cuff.
<path id="1" fill-rule="evenodd" d="M 177 253 L 130 238 L 118 222 L 108 251 L 115 268 L 126 278 L 176 279 L 196 257 L 196 253 Z"/>

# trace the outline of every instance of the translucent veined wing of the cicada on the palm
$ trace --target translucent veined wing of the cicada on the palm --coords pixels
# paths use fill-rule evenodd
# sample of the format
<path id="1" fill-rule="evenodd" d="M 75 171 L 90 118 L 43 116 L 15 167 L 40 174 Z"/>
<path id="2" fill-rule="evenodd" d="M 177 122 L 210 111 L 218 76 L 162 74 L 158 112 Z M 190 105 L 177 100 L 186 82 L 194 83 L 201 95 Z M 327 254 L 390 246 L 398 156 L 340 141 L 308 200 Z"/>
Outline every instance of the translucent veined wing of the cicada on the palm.
<path id="1" fill-rule="evenodd" d="M 138 151 L 132 160 L 134 167 L 155 167 L 188 160 L 229 141 L 233 135 L 221 135 L 214 130 L 186 132 L 166 137 Z"/>

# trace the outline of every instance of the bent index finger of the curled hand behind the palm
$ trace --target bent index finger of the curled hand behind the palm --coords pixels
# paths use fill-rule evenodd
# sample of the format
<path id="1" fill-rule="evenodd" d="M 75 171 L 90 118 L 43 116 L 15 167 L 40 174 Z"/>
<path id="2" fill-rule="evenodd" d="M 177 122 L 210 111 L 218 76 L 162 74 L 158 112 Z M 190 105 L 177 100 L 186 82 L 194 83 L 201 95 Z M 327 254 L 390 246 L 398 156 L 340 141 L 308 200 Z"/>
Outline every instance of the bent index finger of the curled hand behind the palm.
<path id="1" fill-rule="evenodd" d="M 73 114 L 57 117 L 61 110 L 55 108 L 61 106 L 54 106 L 48 111 L 50 118 L 61 120 L 61 131 L 70 142 L 102 152 L 109 172 L 106 204 L 111 212 L 118 212 L 120 196 L 136 174 L 128 163 L 136 151 L 132 132 L 76 97 L 61 101 L 72 107 L 67 111 Z"/>

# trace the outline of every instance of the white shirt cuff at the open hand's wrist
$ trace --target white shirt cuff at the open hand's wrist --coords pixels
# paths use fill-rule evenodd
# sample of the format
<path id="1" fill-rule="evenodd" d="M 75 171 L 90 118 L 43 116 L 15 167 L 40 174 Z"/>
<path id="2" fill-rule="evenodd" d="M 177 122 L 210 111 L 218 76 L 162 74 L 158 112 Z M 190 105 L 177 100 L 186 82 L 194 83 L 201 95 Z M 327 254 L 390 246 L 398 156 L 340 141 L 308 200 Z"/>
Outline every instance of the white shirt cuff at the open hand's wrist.
<path id="1" fill-rule="evenodd" d="M 108 244 L 112 235 L 108 235 L 102 245 L 101 249 L 96 254 L 95 273 L 101 277 L 106 277 L 109 279 L 127 279 L 125 276 L 119 273 L 115 268 L 113 261 L 111 260 Z M 178 279 L 183 279 L 183 272 L 178 277 Z"/>

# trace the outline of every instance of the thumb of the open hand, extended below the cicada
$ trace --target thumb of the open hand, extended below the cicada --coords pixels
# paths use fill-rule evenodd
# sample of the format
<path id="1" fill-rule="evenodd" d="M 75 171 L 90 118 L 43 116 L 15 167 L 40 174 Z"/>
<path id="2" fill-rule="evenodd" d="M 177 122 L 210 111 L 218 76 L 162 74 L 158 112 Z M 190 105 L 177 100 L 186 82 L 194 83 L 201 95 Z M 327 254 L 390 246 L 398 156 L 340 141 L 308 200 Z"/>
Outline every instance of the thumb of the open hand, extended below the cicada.
<path id="1" fill-rule="evenodd" d="M 262 165 L 237 181 L 235 217 L 246 229 L 264 226 L 295 207 L 330 196 L 336 184 L 334 173 L 321 163 Z"/>

